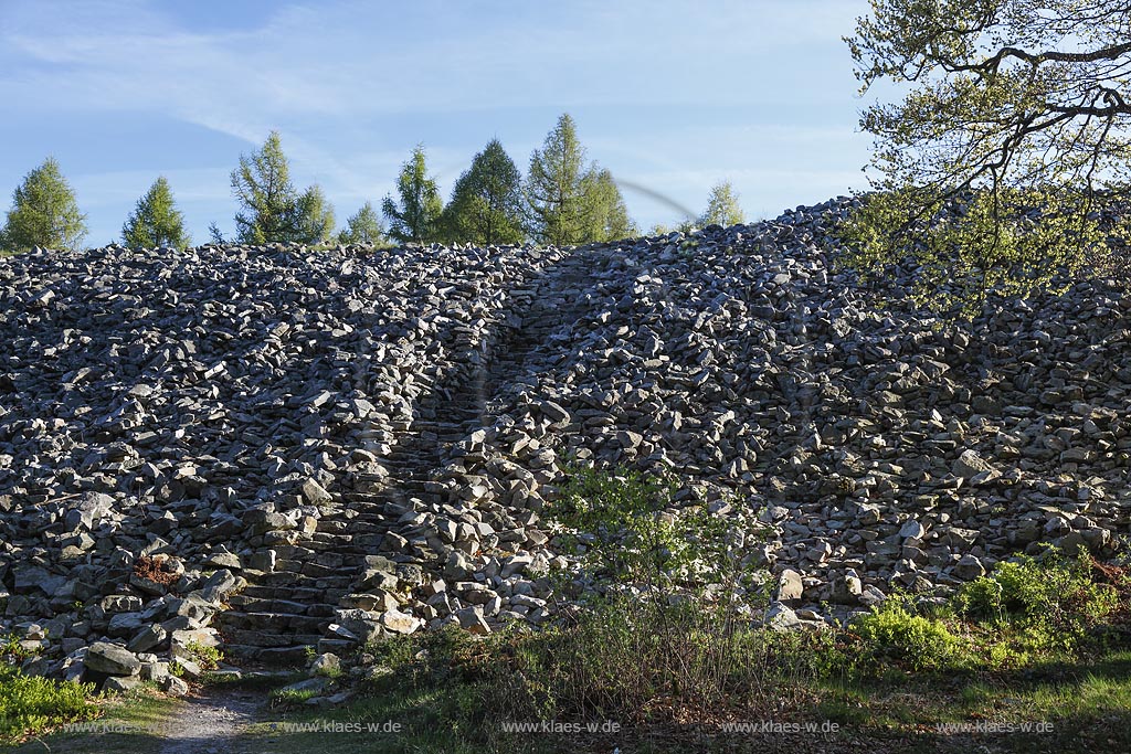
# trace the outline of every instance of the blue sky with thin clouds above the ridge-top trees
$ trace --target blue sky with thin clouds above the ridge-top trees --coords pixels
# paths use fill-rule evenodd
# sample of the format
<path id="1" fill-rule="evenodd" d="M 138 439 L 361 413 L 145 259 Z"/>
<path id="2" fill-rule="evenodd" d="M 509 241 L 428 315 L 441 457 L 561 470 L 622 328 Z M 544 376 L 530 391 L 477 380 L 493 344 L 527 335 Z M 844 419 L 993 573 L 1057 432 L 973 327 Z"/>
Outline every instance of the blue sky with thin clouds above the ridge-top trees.
<path id="1" fill-rule="evenodd" d="M 338 222 L 392 190 L 423 142 L 444 196 L 499 138 L 525 172 L 558 115 L 647 228 L 729 180 L 750 217 L 849 189 L 849 35 L 866 0 L 413 3 L 0 0 L 0 208 L 48 155 L 116 240 L 157 175 L 193 239 L 230 233 L 228 175 L 282 133 L 300 189 Z"/>

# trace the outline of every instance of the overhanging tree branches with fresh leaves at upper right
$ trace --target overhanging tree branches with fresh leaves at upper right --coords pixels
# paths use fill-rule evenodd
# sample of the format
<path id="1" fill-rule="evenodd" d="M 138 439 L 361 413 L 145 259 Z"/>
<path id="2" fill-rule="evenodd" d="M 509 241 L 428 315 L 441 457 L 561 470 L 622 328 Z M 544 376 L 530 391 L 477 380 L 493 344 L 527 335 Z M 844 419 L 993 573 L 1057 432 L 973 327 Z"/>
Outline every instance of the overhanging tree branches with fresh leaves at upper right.
<path id="1" fill-rule="evenodd" d="M 976 311 L 1094 268 L 1128 239 L 1126 0 L 872 0 L 846 38 L 867 107 L 873 193 L 843 229 L 849 261 L 918 271 L 920 298 Z"/>

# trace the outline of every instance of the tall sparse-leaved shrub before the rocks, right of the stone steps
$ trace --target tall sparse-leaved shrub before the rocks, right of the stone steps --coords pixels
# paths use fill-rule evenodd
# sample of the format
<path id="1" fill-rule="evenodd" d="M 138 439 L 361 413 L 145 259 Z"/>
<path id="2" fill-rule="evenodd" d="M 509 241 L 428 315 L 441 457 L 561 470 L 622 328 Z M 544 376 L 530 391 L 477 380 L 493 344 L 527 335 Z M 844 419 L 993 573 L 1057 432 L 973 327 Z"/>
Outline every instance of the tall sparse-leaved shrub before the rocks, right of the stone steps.
<path id="1" fill-rule="evenodd" d="M 760 525 L 693 499 L 676 505 L 674 478 L 568 474 L 549 513 L 564 528 L 559 545 L 580 563 L 560 589 L 586 607 L 563 626 L 511 641 L 497 709 L 641 720 L 761 699 L 770 656 L 748 617 L 766 604 L 749 560 Z"/>

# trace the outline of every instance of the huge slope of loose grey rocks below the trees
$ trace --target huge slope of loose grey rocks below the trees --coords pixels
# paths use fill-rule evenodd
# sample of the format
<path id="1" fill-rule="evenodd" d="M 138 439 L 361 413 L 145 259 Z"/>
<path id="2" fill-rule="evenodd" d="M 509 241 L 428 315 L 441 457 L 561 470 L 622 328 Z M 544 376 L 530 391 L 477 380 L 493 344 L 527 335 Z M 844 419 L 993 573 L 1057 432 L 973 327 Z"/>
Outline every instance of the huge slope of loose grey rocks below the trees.
<path id="1" fill-rule="evenodd" d="M 774 536 L 775 625 L 1128 532 L 1131 297 L 968 324 L 835 271 L 836 200 L 558 249 L 0 262 L 0 596 L 69 677 L 553 619 L 569 458 Z M 809 608 L 805 612 L 803 608 Z"/>

